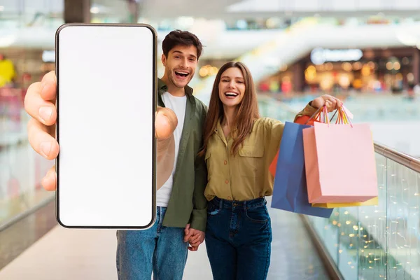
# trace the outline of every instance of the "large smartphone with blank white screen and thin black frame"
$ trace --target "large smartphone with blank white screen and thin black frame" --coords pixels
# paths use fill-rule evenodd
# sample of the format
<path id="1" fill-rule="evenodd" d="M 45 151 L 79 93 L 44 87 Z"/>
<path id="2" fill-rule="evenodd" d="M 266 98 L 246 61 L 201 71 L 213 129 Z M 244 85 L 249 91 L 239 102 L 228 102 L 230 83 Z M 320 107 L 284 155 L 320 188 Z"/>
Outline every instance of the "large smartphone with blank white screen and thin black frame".
<path id="1" fill-rule="evenodd" d="M 155 222 L 156 31 L 57 29 L 57 221 L 146 229 Z"/>

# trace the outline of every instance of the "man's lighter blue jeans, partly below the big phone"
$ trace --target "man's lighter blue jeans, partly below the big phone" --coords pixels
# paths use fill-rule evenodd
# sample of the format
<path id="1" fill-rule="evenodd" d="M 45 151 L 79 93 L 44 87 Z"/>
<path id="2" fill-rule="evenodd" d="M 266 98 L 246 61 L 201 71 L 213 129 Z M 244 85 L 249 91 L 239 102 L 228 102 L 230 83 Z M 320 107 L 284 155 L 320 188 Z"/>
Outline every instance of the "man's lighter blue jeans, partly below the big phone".
<path id="1" fill-rule="evenodd" d="M 148 230 L 117 232 L 117 272 L 120 280 L 181 280 L 188 242 L 183 228 L 162 225 L 165 207 L 158 207 L 156 223 Z"/>

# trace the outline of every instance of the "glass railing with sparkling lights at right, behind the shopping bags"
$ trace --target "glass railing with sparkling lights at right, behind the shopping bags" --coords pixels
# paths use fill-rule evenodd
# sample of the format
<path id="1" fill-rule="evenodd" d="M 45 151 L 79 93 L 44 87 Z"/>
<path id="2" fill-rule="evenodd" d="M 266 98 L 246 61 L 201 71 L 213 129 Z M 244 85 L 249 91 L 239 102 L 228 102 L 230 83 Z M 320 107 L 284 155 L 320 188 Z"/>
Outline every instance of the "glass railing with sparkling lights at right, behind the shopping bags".
<path id="1" fill-rule="evenodd" d="M 260 99 L 262 116 L 293 121 L 296 111 Z M 420 279 L 420 160 L 375 144 L 379 204 L 307 216 L 342 279 Z"/>

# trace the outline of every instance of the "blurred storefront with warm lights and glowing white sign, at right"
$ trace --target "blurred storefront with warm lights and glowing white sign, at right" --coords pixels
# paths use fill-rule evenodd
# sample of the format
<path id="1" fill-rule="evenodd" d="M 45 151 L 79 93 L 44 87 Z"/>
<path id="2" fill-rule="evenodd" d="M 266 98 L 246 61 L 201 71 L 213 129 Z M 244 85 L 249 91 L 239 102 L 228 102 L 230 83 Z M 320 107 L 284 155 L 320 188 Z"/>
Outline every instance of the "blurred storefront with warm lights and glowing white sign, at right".
<path id="1" fill-rule="evenodd" d="M 262 80 L 262 92 L 400 93 L 419 83 L 417 48 L 315 48 L 288 69 Z M 291 85 L 290 85 L 291 83 Z"/>

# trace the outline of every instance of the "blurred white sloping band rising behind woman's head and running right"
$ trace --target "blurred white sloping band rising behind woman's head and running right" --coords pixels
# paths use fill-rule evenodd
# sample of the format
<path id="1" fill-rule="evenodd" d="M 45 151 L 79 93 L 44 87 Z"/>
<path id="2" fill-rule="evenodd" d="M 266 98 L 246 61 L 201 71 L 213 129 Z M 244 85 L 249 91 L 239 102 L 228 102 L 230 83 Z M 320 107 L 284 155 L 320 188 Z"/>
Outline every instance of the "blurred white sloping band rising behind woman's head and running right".
<path id="1" fill-rule="evenodd" d="M 420 22 L 398 25 L 338 25 L 337 20 L 304 18 L 273 34 L 272 40 L 237 57 L 250 69 L 254 83 L 278 72 L 316 48 L 364 49 L 416 46 Z M 358 50 L 360 52 L 360 50 Z M 321 53 L 322 56 L 322 53 Z M 322 57 L 318 57 L 318 60 Z M 208 104 L 214 76 L 192 80 L 196 96 Z"/>

